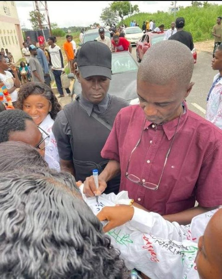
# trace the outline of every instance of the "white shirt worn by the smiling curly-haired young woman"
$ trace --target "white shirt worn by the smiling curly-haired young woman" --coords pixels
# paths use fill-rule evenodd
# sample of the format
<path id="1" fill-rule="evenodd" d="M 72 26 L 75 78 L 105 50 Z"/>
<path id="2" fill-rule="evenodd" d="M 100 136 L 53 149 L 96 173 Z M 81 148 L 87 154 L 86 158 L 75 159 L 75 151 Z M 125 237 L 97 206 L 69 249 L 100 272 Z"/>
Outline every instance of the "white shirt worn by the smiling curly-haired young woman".
<path id="1" fill-rule="evenodd" d="M 45 141 L 46 147 L 44 159 L 48 163 L 49 168 L 60 171 L 57 143 L 54 134 L 52 133 L 53 123 L 54 120 L 51 118 L 50 114 L 48 114 L 47 117 L 43 120 L 43 122 L 39 125 L 39 127 L 49 134 L 49 138 Z M 40 130 L 40 132 L 42 131 Z"/>

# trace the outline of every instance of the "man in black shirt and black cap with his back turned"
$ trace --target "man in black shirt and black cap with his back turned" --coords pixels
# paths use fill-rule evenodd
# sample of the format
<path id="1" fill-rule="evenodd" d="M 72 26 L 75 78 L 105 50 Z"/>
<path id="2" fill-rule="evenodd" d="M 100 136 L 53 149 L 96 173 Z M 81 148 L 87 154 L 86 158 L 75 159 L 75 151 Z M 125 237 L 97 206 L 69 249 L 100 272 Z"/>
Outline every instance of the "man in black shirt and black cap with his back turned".
<path id="1" fill-rule="evenodd" d="M 194 48 L 193 37 L 190 34 L 190 32 L 183 30 L 184 25 L 185 25 L 184 17 L 178 17 L 176 19 L 177 32 L 176 34 L 169 37 L 168 40 L 176 40 L 178 42 L 185 44 L 187 47 L 189 47 L 190 50 L 193 50 Z"/>

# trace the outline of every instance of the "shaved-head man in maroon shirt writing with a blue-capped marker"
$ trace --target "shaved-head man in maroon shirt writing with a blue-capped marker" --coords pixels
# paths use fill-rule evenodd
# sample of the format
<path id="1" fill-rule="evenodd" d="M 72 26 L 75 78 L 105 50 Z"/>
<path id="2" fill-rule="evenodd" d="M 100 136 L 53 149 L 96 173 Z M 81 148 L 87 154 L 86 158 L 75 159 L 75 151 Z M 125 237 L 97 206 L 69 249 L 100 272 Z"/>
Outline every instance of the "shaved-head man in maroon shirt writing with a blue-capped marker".
<path id="1" fill-rule="evenodd" d="M 188 110 L 192 72 L 192 54 L 180 42 L 146 52 L 137 75 L 140 105 L 117 114 L 101 153 L 110 162 L 99 175 L 103 192 L 121 170 L 120 191 L 180 224 L 222 204 L 222 131 Z M 94 195 L 91 177 L 84 191 Z"/>

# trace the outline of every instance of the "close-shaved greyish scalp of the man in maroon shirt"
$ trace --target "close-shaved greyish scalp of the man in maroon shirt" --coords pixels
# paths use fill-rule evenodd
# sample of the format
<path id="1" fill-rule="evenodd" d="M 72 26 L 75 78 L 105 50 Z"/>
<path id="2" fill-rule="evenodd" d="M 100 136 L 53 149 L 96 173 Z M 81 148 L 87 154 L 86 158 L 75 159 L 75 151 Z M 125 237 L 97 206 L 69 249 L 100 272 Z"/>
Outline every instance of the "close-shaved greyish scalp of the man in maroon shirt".
<path id="1" fill-rule="evenodd" d="M 157 85 L 171 81 L 189 85 L 194 68 L 193 55 L 181 42 L 166 40 L 147 50 L 137 74 L 137 82 L 143 80 Z"/>

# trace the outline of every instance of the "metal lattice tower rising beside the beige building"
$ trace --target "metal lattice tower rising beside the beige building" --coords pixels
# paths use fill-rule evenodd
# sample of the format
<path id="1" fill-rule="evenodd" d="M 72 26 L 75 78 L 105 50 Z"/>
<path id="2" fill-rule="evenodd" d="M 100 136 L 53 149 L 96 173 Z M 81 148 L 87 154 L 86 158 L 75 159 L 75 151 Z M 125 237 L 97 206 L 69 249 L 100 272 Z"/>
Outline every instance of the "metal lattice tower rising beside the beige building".
<path id="1" fill-rule="evenodd" d="M 39 29 L 47 29 L 46 27 L 48 27 L 50 31 L 50 35 L 52 36 L 47 1 L 33 1 L 33 2 L 34 2 L 34 9 L 35 11 L 38 12 Z M 44 15 L 43 22 L 41 22 L 40 14 Z"/>

